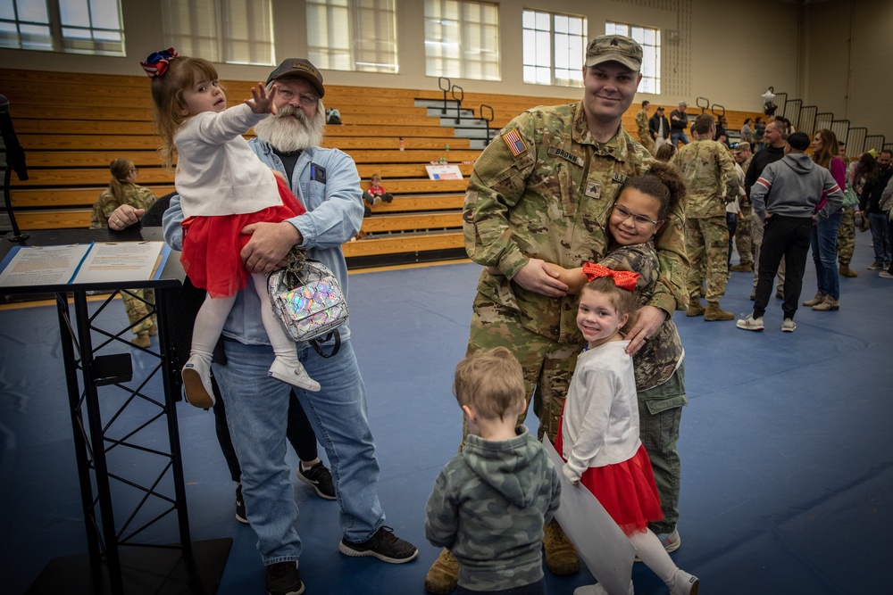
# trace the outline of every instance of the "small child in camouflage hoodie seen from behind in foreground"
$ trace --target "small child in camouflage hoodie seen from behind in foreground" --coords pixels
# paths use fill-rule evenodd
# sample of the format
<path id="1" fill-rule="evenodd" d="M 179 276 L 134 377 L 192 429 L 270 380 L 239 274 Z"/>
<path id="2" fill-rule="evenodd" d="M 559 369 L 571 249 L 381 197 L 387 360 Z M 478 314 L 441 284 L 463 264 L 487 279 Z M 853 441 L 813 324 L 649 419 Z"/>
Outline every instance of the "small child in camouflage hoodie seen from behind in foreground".
<path id="1" fill-rule="evenodd" d="M 458 595 L 542 595 L 543 526 L 561 482 L 543 445 L 518 425 L 527 409 L 521 364 L 505 347 L 478 351 L 455 368 L 453 392 L 469 433 L 434 483 L 425 537 L 455 557 Z"/>

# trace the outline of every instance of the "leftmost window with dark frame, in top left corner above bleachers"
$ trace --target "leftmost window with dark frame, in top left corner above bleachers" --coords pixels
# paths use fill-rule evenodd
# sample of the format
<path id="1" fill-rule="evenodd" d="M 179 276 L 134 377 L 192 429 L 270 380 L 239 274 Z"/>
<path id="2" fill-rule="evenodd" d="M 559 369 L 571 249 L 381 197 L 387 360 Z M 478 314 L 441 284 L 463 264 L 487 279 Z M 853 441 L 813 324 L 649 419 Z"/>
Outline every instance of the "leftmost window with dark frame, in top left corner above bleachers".
<path id="1" fill-rule="evenodd" d="M 122 56 L 120 0 L 0 0 L 0 47 Z"/>

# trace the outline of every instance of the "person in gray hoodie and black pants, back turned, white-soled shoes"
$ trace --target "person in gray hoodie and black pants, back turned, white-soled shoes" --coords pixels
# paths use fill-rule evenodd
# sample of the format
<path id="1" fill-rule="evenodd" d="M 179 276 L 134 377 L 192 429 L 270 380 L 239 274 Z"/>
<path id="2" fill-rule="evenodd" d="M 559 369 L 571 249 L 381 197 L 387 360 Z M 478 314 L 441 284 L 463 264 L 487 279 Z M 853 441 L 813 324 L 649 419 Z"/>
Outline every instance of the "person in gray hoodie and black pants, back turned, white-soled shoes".
<path id="1" fill-rule="evenodd" d="M 840 208 L 843 192 L 830 171 L 814 163 L 805 149 L 809 136 L 795 132 L 788 137 L 781 161 L 770 163 L 750 191 L 754 214 L 765 223 L 760 248 L 760 277 L 756 282 L 754 312 L 738 321 L 748 331 L 764 329 L 763 315 L 772 293 L 772 278 L 782 257 L 787 268 L 784 280 L 784 320 L 781 330 L 797 328 L 794 314 L 800 301 L 810 229 L 816 218 L 827 218 Z"/>

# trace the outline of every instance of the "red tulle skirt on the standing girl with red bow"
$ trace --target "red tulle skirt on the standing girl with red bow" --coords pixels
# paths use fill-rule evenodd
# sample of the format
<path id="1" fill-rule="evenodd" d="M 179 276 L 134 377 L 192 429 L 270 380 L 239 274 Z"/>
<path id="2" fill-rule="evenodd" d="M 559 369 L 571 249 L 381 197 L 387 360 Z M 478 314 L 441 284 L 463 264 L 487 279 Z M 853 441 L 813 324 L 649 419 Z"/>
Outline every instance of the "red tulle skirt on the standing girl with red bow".
<path id="1" fill-rule="evenodd" d="M 563 421 L 562 417 L 555 437 L 555 450 L 559 454 L 563 451 Z M 648 523 L 663 518 L 655 473 L 644 445 L 638 447 L 632 459 L 604 467 L 589 467 L 583 472 L 580 483 L 592 492 L 627 535 L 645 531 Z"/>

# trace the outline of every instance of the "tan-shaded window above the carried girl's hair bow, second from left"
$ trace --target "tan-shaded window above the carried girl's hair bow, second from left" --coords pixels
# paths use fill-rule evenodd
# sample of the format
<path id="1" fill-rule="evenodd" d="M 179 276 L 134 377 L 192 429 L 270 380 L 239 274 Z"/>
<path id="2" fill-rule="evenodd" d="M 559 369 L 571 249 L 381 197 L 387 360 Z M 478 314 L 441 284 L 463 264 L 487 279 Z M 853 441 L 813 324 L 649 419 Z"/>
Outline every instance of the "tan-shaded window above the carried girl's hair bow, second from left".
<path id="1" fill-rule="evenodd" d="M 271 0 L 162 0 L 166 45 L 210 62 L 274 62 Z"/>

